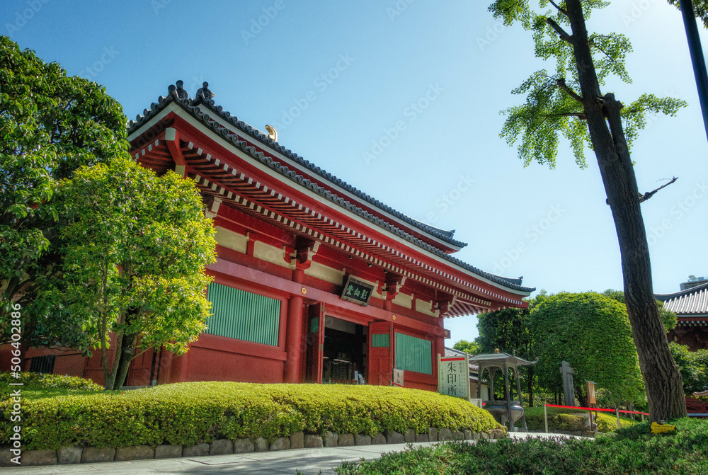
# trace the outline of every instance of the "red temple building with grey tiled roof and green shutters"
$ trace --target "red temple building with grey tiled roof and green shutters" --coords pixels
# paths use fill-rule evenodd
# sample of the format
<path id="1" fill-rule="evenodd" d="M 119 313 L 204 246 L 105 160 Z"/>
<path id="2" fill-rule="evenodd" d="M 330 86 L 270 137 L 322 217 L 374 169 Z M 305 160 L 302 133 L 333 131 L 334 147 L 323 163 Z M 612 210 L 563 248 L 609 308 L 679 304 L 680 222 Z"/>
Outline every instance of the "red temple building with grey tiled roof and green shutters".
<path id="1" fill-rule="evenodd" d="M 452 256 L 466 246 L 315 166 L 212 101 L 169 87 L 130 122 L 131 154 L 193 180 L 216 229 L 208 329 L 176 356 L 149 351 L 126 384 L 343 382 L 437 389 L 446 318 L 508 307 L 535 289 Z M 50 353 L 53 355 L 50 355 Z M 34 357 L 33 357 L 34 356 Z M 27 370 L 103 383 L 100 358 L 33 349 Z"/>

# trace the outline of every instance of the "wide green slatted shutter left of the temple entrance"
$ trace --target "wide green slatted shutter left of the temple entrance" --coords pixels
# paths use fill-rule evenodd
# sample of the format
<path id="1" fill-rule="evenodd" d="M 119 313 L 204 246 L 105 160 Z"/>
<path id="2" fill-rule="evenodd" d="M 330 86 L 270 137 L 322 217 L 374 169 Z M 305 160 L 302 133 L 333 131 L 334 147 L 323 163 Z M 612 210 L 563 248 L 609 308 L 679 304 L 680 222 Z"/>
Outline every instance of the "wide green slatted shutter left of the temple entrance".
<path id="1" fill-rule="evenodd" d="M 211 283 L 212 316 L 204 333 L 278 346 L 280 300 Z"/>

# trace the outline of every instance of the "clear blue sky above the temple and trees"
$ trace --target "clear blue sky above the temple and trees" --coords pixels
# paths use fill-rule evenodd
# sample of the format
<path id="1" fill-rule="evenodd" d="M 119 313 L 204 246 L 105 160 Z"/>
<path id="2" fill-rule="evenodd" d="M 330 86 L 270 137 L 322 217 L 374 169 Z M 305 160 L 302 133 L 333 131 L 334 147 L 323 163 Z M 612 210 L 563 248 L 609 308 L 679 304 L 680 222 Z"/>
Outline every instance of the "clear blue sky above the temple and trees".
<path id="1" fill-rule="evenodd" d="M 190 96 L 209 81 L 219 105 L 261 130 L 276 125 L 305 159 L 456 229 L 469 243 L 464 261 L 549 292 L 621 289 L 594 156 L 581 170 L 562 145 L 556 169 L 523 168 L 498 137 L 499 111 L 523 101 L 510 91 L 542 64 L 530 36 L 497 23 L 488 3 L 6 0 L 0 34 L 105 85 L 128 118 L 178 79 Z M 588 26 L 634 45 L 634 83 L 605 91 L 625 103 L 644 92 L 690 103 L 676 118 L 651 118 L 632 154 L 642 192 L 679 177 L 642 205 L 654 291 L 674 292 L 688 275 L 708 275 L 708 142 L 683 22 L 666 0 L 615 0 Z M 446 327 L 450 343 L 472 339 L 476 317 Z"/>

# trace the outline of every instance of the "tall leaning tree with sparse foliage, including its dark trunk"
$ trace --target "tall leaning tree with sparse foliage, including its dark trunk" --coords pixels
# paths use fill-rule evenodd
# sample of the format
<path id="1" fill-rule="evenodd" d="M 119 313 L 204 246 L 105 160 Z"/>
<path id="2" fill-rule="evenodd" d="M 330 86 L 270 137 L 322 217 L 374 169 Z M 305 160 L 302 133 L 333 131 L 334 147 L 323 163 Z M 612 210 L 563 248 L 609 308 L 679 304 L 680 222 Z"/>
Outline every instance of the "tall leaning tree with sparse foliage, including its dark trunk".
<path id="1" fill-rule="evenodd" d="M 555 71 L 532 74 L 514 93 L 524 105 L 506 110 L 501 132 L 509 144 L 520 140 L 518 153 L 555 165 L 561 137 L 568 140 L 576 163 L 586 166 L 585 148 L 595 153 L 615 221 L 622 258 L 624 295 L 649 401 L 651 420 L 686 415 L 681 374 L 671 357 L 658 307 L 653 298 L 651 263 L 640 203 L 641 194 L 629 154 L 632 141 L 646 125 L 646 113 L 674 115 L 685 102 L 642 94 L 629 105 L 600 90 L 612 76 L 629 82 L 624 59 L 632 47 L 624 35 L 588 33 L 586 18 L 609 3 L 604 0 L 496 0 L 489 7 L 506 25 L 515 21 L 531 30 L 535 53 L 554 59 Z M 550 8 L 550 9 L 549 9 Z"/>

